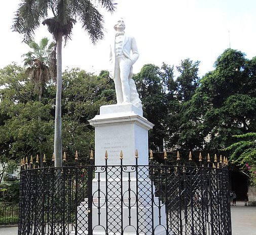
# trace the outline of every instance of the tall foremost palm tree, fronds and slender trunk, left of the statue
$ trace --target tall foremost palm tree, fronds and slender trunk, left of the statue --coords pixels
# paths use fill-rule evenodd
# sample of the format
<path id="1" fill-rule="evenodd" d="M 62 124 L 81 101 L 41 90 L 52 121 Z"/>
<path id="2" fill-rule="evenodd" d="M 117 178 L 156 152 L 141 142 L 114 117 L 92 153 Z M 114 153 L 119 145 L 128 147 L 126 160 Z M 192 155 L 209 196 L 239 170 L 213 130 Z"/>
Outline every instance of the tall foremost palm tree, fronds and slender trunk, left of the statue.
<path id="1" fill-rule="evenodd" d="M 93 1 L 96 3 L 96 1 Z M 98 0 L 99 5 L 109 12 L 115 10 L 113 0 Z M 53 14 L 48 18 L 48 12 Z M 34 30 L 42 23 L 48 26 L 57 46 L 57 88 L 55 106 L 54 154 L 55 166 L 62 166 L 61 141 L 61 50 L 62 38 L 65 42 L 70 38 L 76 20 L 88 32 L 92 43 L 103 38 L 103 16 L 91 0 L 23 0 L 15 14 L 13 30 L 24 35 L 24 41 L 30 42 Z"/>

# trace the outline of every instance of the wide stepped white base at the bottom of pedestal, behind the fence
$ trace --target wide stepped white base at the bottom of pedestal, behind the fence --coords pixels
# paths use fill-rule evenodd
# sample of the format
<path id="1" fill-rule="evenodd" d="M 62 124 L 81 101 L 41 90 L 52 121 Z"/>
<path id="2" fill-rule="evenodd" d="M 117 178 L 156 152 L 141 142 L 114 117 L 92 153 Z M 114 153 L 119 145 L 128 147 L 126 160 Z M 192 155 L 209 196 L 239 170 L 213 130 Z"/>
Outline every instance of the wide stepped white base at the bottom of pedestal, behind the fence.
<path id="1" fill-rule="evenodd" d="M 117 200 L 118 199 L 109 200 L 108 205 L 111 206 L 106 207 L 105 202 L 98 204 L 98 199 L 93 199 L 93 207 L 90 213 L 92 213 L 94 235 L 106 235 L 106 227 L 108 227 L 107 235 L 121 235 L 122 227 L 122 234 L 124 235 L 149 235 L 153 234 L 153 228 L 155 235 L 166 235 L 165 205 L 160 205 L 158 198 L 154 198 L 154 206 L 152 206 L 152 202 L 149 201 L 143 203 L 139 202 L 138 207 L 134 199 L 124 199 L 122 209 L 121 202 L 117 202 Z M 130 205 L 133 205 L 132 207 L 125 206 L 129 201 Z M 78 207 L 78 221 L 80 221 L 78 222 L 78 234 L 81 235 L 88 234 L 88 221 L 84 220 L 88 218 L 87 202 L 88 199 Z M 120 214 L 121 211 L 122 215 Z M 159 224 L 159 216 L 161 217 L 161 224 Z M 138 233 L 136 232 L 137 227 Z M 171 234 L 171 232 L 169 231 L 168 234 Z"/>

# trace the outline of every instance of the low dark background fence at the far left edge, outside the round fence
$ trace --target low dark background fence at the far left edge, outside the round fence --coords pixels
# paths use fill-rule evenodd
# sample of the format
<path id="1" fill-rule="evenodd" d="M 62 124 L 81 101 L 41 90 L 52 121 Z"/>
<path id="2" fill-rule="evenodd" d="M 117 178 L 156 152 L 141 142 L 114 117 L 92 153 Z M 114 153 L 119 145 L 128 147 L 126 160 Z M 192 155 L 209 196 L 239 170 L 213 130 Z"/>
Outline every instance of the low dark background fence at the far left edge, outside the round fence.
<path id="1" fill-rule="evenodd" d="M 19 207 L 18 206 L 0 206 L 0 225 L 18 224 Z"/>

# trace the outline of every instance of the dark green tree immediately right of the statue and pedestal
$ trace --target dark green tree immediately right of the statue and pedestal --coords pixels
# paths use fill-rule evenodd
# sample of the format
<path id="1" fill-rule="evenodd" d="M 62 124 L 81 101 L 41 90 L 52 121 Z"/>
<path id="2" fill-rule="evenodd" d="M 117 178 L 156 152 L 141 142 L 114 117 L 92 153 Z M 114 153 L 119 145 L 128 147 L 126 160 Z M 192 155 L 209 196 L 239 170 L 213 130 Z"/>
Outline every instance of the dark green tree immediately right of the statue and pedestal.
<path id="1" fill-rule="evenodd" d="M 165 73 L 165 75 L 163 75 Z M 137 90 L 143 105 L 143 115 L 155 126 L 149 132 L 149 147 L 157 150 L 163 146 L 165 133 L 164 117 L 166 114 L 166 89 L 168 76 L 172 70 L 161 69 L 153 64 L 145 64 L 139 73 L 134 75 Z"/>

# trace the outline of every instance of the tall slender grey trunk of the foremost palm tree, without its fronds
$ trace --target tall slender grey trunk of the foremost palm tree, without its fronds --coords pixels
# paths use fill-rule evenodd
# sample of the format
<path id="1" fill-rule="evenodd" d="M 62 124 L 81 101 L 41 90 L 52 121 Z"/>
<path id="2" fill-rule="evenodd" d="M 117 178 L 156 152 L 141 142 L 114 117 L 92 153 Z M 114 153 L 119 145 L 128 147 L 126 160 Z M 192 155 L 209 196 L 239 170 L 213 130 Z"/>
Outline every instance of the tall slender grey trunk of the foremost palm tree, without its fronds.
<path id="1" fill-rule="evenodd" d="M 55 106 L 55 125 L 54 125 L 54 155 L 55 167 L 62 166 L 62 142 L 61 142 L 61 50 L 62 50 L 62 32 L 57 36 L 57 89 L 56 89 L 56 106 Z"/>

